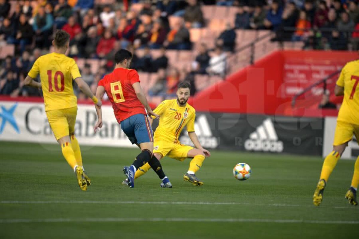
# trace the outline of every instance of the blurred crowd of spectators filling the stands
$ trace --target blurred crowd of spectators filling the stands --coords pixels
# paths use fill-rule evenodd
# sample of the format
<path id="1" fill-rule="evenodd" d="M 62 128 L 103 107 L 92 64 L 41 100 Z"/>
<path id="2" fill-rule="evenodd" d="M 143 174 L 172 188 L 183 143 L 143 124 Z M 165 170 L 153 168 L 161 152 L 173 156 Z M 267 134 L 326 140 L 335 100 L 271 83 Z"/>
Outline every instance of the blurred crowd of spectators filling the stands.
<path id="1" fill-rule="evenodd" d="M 80 69 L 93 90 L 103 75 L 113 69 L 116 50 L 127 48 L 133 52 L 131 68 L 157 73 L 158 80 L 148 91 L 150 95 L 172 95 L 181 80 L 190 80 L 194 86 L 196 74 L 223 76 L 226 57 L 236 50 L 236 29 L 269 29 L 276 33 L 273 41 L 304 41 L 305 49 L 359 48 L 356 0 L 124 0 L 112 1 L 111 5 L 103 2 L 110 1 L 0 0 L 0 47 L 15 46 L 14 55 L 1 59 L 0 94 L 14 97 L 39 94 L 24 87 L 23 80 L 34 61 L 51 51 L 56 29 L 70 34 L 70 57 L 101 60 L 97 72 L 92 72 L 89 64 Z M 135 4 L 141 4 L 141 8 L 131 8 Z M 214 38 L 213 48 L 204 42 L 195 47 L 190 40 L 190 29 L 208 24 L 203 5 L 237 9 L 233 19 L 225 19 L 225 27 Z M 170 24 L 171 16 L 179 20 Z M 169 64 L 167 49 L 193 49 L 197 53 L 189 69 L 180 69 Z M 160 51 L 160 55 L 154 58 L 152 50 Z M 143 54 L 137 56 L 137 51 Z M 78 93 L 78 97 L 82 99 L 84 95 Z"/>

